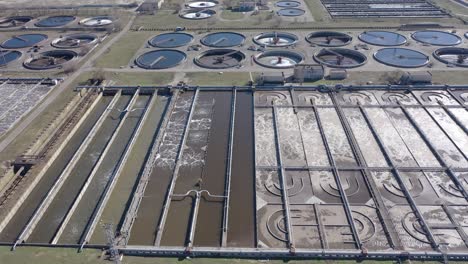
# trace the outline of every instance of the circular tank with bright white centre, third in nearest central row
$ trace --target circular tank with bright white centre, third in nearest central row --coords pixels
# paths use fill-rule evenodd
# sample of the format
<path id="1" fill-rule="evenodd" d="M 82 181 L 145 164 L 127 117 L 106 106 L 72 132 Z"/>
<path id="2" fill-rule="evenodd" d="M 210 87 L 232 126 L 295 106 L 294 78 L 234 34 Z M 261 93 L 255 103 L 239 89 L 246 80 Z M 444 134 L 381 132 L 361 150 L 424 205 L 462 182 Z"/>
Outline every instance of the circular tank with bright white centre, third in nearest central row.
<path id="1" fill-rule="evenodd" d="M 257 64 L 275 69 L 292 68 L 304 61 L 304 55 L 289 50 L 270 50 L 254 56 Z"/>

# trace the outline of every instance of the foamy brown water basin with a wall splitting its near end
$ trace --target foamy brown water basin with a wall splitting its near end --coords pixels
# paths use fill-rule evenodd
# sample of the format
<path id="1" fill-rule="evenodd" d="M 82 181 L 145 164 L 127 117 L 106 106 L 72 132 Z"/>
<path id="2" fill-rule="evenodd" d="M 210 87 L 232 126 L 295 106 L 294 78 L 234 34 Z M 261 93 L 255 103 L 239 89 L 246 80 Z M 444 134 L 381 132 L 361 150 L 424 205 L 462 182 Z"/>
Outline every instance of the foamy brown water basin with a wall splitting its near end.
<path id="1" fill-rule="evenodd" d="M 231 92 L 200 92 L 189 127 L 174 194 L 205 190 L 224 195 Z M 195 197 L 194 193 L 191 193 Z M 162 245 L 184 246 L 189 239 L 195 199 L 171 201 Z M 192 202 L 193 200 L 193 202 Z M 206 193 L 200 201 L 194 245 L 220 246 L 223 199 Z"/>

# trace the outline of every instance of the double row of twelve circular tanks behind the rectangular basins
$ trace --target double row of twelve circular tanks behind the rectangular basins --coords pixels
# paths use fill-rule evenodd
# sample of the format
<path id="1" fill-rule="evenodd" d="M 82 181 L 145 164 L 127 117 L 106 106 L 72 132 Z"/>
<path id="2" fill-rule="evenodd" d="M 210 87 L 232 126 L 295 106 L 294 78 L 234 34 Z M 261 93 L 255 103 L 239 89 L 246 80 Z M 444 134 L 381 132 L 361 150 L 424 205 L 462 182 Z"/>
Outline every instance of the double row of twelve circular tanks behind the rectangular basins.
<path id="1" fill-rule="evenodd" d="M 427 33 L 433 32 L 437 36 L 442 36 L 448 43 L 456 45 L 461 42 L 461 38 L 451 33 L 442 31 L 419 31 L 413 34 L 414 38 L 425 39 Z M 452 38 L 456 36 L 457 38 Z M 368 31 L 362 33 L 359 38 L 367 43 L 380 46 L 398 46 L 406 43 L 406 38 L 398 33 L 386 31 Z M 147 52 L 136 59 L 136 64 L 146 69 L 165 69 L 174 67 L 186 59 L 186 54 L 171 50 L 171 48 L 182 47 L 193 41 L 194 37 L 187 33 L 165 33 L 157 35 L 149 40 L 149 44 L 162 50 Z M 197 56 L 195 64 L 205 68 L 223 69 L 239 67 L 246 58 L 241 51 L 227 49 L 241 46 L 245 42 L 245 36 L 234 32 L 216 32 L 204 36 L 200 42 L 215 49 L 205 51 Z M 314 60 L 329 67 L 354 68 L 367 62 L 366 55 L 361 52 L 336 48 L 344 46 L 352 41 L 352 37 L 339 32 L 314 32 L 306 37 L 310 43 L 324 46 L 314 55 Z M 455 41 L 459 40 L 458 41 Z M 440 41 L 430 38 L 434 45 L 441 45 Z M 438 40 L 438 38 L 437 38 Z M 285 32 L 261 33 L 253 38 L 253 41 L 260 46 L 285 47 L 298 42 L 298 37 Z M 393 41 L 393 42 L 391 42 Z M 429 41 L 429 40 L 428 40 Z M 390 45 L 390 43 L 392 45 Z M 463 48 L 443 48 L 434 52 L 434 57 L 438 60 L 457 66 L 468 66 L 468 49 Z M 384 48 L 374 54 L 374 58 L 383 64 L 414 68 L 422 67 L 429 63 L 429 56 L 415 50 L 406 48 Z M 298 52 L 290 50 L 270 50 L 265 51 L 252 58 L 257 64 L 270 68 L 289 68 L 304 61 L 304 56 Z"/>

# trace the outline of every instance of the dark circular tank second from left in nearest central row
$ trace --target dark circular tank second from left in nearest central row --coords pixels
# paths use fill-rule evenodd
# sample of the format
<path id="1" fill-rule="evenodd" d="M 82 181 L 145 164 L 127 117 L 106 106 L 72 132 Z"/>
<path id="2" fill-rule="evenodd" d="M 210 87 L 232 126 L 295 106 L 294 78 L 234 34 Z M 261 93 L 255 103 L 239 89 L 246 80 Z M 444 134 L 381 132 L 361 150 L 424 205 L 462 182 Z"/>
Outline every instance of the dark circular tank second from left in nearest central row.
<path id="1" fill-rule="evenodd" d="M 195 58 L 195 64 L 208 69 L 227 69 L 241 66 L 244 53 L 233 49 L 213 49 Z"/>

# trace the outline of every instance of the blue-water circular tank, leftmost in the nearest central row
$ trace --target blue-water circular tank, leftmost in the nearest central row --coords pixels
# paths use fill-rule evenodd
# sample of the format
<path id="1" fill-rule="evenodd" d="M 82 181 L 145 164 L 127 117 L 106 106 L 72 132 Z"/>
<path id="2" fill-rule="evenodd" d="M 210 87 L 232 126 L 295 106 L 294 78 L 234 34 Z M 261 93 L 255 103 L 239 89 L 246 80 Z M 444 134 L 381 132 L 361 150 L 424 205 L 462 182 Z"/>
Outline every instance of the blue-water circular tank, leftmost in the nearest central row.
<path id="1" fill-rule="evenodd" d="M 135 60 L 135 63 L 144 69 L 167 69 L 181 64 L 187 55 L 178 50 L 154 50 L 147 52 Z"/>

